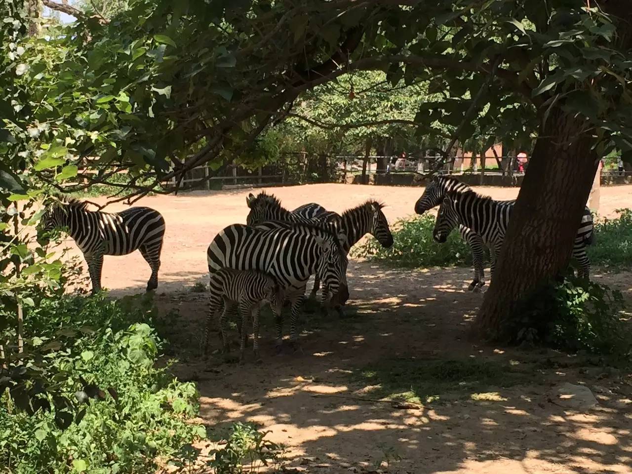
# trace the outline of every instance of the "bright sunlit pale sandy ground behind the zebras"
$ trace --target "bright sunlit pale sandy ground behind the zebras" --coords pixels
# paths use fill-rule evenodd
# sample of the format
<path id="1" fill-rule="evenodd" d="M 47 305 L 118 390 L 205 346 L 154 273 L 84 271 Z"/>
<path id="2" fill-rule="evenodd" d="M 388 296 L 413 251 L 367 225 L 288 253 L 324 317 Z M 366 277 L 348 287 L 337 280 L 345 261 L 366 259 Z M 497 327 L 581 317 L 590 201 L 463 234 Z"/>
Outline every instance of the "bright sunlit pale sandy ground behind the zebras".
<path id="1" fill-rule="evenodd" d="M 495 199 L 513 199 L 518 188 L 475 187 Z M 248 207 L 246 196 L 259 190 L 200 191 L 179 196 L 152 196 L 135 205 L 159 210 L 165 218 L 167 231 L 162 251 L 159 291 L 176 291 L 196 281 L 204 281 L 207 274 L 206 250 L 210 241 L 224 227 L 235 222 L 246 222 Z M 318 202 L 329 210 L 342 212 L 361 204 L 368 198 L 386 203 L 384 209 L 389 222 L 415 214 L 416 200 L 423 188 L 372 186 L 372 185 L 304 185 L 270 188 L 288 209 L 295 209 L 306 202 Z M 92 198 L 103 204 L 106 198 Z M 599 214 L 616 217 L 615 209 L 632 207 L 632 185 L 601 188 Z M 109 205 L 114 212 L 125 209 L 123 204 Z M 73 245 L 69 240 L 68 244 Z M 149 265 L 140 252 L 126 257 L 106 257 L 103 267 L 102 286 L 121 293 L 142 291 L 149 279 Z"/>

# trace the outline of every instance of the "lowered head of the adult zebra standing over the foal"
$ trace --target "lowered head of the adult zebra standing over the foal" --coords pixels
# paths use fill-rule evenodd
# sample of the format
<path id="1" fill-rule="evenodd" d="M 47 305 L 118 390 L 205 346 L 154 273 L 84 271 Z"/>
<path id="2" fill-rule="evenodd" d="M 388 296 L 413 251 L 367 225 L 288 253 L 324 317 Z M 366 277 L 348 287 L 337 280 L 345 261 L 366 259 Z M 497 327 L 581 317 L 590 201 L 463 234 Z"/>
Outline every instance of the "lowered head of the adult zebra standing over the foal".
<path id="1" fill-rule="evenodd" d="M 315 235 L 314 240 L 322 254 L 318 259 L 316 273 L 325 288 L 332 293 L 331 304 L 334 307 L 343 305 L 349 299 L 347 284 L 347 265 L 349 260 L 343 250 L 346 234 L 340 231 L 334 238 Z"/>

